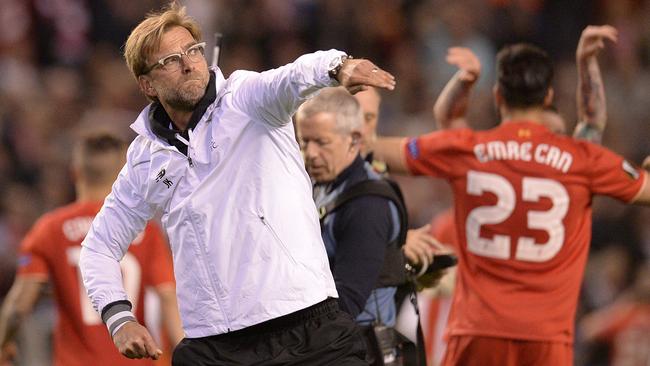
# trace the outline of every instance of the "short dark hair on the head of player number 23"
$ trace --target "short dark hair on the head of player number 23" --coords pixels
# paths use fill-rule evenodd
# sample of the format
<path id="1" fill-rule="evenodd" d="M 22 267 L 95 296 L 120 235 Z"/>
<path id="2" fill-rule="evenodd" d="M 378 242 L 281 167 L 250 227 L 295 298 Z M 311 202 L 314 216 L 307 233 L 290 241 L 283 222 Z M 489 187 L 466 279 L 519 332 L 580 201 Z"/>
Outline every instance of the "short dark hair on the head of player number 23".
<path id="1" fill-rule="evenodd" d="M 517 43 L 497 54 L 497 83 L 509 108 L 543 106 L 552 79 L 551 59 L 539 47 Z"/>

